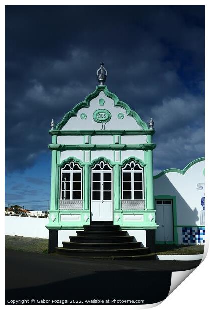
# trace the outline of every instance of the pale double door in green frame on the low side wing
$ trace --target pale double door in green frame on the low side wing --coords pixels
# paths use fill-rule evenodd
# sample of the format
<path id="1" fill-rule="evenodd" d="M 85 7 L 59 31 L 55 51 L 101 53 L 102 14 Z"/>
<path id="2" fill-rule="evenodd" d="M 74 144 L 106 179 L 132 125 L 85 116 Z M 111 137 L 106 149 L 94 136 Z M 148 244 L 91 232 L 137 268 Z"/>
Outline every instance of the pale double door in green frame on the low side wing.
<path id="1" fill-rule="evenodd" d="M 173 238 L 173 204 L 172 200 L 158 199 L 156 203 L 156 241 L 171 242 Z"/>

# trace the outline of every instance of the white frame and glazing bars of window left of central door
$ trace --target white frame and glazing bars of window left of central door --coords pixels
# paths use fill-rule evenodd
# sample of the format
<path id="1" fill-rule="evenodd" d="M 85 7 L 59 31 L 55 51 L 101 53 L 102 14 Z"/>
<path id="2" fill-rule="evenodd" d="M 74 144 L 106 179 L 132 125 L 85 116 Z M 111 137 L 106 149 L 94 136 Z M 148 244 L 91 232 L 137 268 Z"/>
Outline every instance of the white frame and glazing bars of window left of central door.
<path id="1" fill-rule="evenodd" d="M 78 166 L 79 170 L 73 170 L 74 166 Z M 64 170 L 66 168 L 66 166 L 70 167 L 70 170 Z M 63 173 L 69 173 L 70 174 L 70 189 L 69 190 L 62 190 L 62 174 Z M 81 173 L 81 199 L 73 199 L 73 173 Z M 78 181 L 80 182 L 80 181 Z M 70 199 L 62 199 L 62 192 L 70 192 Z M 76 190 L 75 190 L 76 191 Z M 70 161 L 69 163 L 66 163 L 66 165 L 61 169 L 61 173 L 60 173 L 60 200 L 61 201 L 81 201 L 82 200 L 82 196 L 83 196 L 83 168 L 81 168 L 79 166 L 78 163 L 74 162 L 74 161 Z"/>

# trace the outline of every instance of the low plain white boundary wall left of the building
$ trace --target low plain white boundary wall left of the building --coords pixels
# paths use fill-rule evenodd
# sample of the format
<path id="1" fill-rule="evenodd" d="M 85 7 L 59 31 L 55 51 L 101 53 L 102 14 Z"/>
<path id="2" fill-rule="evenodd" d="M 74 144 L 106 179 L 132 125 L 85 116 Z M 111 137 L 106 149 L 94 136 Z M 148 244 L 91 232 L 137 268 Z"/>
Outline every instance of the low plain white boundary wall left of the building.
<path id="1" fill-rule="evenodd" d="M 5 216 L 5 235 L 18 235 L 31 238 L 49 238 L 45 227 L 48 218 Z"/>

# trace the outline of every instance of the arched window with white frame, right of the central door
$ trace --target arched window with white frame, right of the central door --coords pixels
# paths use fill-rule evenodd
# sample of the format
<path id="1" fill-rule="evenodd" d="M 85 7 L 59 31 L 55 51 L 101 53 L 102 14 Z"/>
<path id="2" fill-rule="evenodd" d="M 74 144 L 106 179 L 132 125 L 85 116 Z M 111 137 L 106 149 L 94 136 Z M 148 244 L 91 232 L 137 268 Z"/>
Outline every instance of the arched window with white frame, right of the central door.
<path id="1" fill-rule="evenodd" d="M 122 200 L 144 199 L 143 168 L 131 161 L 122 168 Z"/>

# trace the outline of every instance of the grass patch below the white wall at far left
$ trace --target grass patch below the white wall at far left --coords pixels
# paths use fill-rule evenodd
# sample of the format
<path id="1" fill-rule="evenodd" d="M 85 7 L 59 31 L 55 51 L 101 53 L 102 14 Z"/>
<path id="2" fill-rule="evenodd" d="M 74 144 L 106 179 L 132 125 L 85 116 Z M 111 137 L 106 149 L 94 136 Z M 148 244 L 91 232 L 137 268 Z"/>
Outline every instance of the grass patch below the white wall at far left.
<path id="1" fill-rule="evenodd" d="M 5 236 L 5 248 L 31 253 L 48 253 L 48 239 Z"/>

